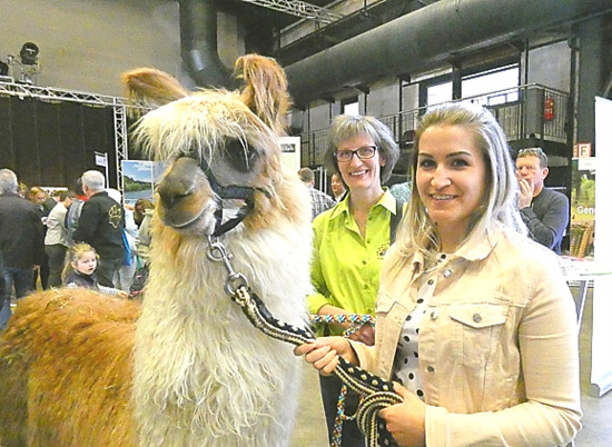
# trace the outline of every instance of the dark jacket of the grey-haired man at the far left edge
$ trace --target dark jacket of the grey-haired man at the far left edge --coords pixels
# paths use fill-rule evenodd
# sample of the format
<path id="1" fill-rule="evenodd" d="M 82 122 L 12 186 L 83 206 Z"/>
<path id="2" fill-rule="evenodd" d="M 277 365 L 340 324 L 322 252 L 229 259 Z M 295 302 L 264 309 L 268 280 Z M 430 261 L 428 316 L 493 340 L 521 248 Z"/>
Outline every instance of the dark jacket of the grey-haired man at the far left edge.
<path id="1" fill-rule="evenodd" d="M 45 227 L 36 205 L 17 196 L 0 196 L 0 250 L 6 267 L 40 265 L 45 254 Z"/>

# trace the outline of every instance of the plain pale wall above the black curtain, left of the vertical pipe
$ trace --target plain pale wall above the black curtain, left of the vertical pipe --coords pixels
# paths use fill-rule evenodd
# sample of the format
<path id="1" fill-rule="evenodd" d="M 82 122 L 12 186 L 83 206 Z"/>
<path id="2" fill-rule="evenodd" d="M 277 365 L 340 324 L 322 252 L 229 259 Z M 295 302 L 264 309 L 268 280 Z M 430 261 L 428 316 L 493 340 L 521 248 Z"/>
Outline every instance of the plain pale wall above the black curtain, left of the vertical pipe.
<path id="1" fill-rule="evenodd" d="M 182 77 L 174 0 L 0 0 L 0 60 L 34 42 L 38 86 L 120 96 L 125 70 Z"/>

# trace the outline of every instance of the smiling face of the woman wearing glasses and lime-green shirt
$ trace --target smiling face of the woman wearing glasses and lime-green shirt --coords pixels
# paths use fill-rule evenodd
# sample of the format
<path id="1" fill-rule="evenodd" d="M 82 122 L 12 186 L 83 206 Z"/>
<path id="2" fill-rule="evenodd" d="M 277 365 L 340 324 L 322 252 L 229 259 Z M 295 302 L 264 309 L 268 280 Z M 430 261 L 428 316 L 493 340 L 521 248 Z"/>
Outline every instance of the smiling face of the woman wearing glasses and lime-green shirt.
<path id="1" fill-rule="evenodd" d="M 368 135 L 358 135 L 342 141 L 337 151 L 357 150 L 366 146 L 376 146 Z M 364 191 L 382 192 L 381 167 L 385 166 L 385 160 L 381 158 L 379 150 L 376 150 L 374 157 L 362 160 L 356 153 L 351 161 L 338 162 L 338 170 L 342 178 L 352 193 Z"/>

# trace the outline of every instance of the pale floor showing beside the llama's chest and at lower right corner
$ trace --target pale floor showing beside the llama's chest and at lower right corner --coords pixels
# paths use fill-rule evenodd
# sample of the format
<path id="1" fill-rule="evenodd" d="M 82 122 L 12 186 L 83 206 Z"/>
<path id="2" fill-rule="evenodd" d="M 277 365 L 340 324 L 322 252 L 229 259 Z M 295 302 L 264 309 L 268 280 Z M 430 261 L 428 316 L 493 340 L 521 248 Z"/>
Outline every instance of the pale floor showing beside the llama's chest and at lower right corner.
<path id="1" fill-rule="evenodd" d="M 589 291 L 580 334 L 581 388 L 583 428 L 578 434 L 575 447 L 612 446 L 612 393 L 603 397 L 590 396 L 592 291 Z M 317 372 L 304 362 L 304 377 L 296 428 L 292 447 L 326 447 L 325 418 L 320 404 Z"/>

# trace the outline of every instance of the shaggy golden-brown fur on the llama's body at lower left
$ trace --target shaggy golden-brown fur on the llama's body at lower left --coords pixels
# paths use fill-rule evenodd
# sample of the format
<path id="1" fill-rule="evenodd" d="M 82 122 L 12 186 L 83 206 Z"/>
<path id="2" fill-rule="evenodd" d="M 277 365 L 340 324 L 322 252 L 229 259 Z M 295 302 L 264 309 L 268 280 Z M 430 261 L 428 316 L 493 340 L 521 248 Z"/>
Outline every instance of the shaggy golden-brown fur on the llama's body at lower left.
<path id="1" fill-rule="evenodd" d="M 135 445 L 131 352 L 139 315 L 138 302 L 86 289 L 20 300 L 0 338 L 2 446 Z"/>

